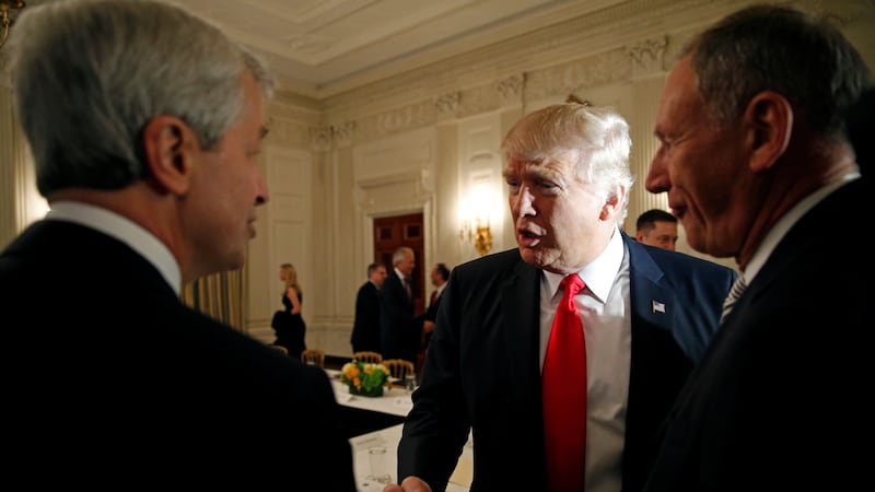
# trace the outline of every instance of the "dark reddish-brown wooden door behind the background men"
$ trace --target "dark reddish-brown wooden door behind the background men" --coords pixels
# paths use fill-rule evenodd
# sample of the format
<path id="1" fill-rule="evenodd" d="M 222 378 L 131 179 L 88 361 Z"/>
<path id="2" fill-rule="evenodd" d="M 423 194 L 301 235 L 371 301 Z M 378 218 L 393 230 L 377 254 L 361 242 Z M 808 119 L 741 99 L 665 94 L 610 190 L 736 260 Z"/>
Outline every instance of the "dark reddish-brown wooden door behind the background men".
<path id="1" fill-rule="evenodd" d="M 429 278 L 429 266 L 424 263 L 422 237 L 422 213 L 395 215 L 374 219 L 374 261 L 384 265 L 389 274 L 394 273 L 392 255 L 401 246 L 413 250 L 416 267 L 413 268 L 413 305 L 416 314 L 425 312 L 425 279 Z"/>

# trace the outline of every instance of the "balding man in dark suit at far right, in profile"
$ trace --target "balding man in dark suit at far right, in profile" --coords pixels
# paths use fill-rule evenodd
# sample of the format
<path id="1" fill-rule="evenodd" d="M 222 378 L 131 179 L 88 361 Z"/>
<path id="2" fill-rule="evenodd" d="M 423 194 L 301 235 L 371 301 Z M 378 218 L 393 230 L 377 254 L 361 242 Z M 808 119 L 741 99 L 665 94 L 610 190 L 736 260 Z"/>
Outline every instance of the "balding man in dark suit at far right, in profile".
<path id="1" fill-rule="evenodd" d="M 760 5 L 696 37 L 666 80 L 646 188 L 747 288 L 645 490 L 871 487 L 873 255 L 853 232 L 872 194 L 843 124 L 870 77 L 829 21 Z"/>

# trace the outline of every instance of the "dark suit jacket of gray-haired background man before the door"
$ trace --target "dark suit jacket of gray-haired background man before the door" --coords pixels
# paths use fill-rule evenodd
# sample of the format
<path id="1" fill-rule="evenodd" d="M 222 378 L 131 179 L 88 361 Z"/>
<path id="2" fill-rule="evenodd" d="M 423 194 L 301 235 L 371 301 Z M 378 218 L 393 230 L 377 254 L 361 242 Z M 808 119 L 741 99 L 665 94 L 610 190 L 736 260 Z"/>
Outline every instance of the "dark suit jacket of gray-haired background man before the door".
<path id="1" fill-rule="evenodd" d="M 405 359 L 416 364 L 422 319 L 413 315 L 413 300 L 390 270 L 380 295 L 380 349 L 383 359 Z"/>

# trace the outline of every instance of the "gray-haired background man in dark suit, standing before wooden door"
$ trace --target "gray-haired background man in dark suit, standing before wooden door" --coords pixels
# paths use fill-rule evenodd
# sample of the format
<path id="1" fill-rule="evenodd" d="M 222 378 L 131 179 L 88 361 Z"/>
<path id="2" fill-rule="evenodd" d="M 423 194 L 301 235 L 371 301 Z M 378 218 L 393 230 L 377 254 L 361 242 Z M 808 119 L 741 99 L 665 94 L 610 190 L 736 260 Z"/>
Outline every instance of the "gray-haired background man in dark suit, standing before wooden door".
<path id="1" fill-rule="evenodd" d="M 383 359 L 417 363 L 423 320 L 415 313 L 411 274 L 413 249 L 399 247 L 392 255 L 393 271 L 386 276 L 380 296 L 380 348 Z"/>

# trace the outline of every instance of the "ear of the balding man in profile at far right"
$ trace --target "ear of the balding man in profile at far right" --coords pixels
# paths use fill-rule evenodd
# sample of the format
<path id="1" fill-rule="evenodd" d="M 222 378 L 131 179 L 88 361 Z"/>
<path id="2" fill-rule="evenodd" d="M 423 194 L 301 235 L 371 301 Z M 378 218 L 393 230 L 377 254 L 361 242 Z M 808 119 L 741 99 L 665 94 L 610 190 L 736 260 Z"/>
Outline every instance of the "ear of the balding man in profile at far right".
<path id="1" fill-rule="evenodd" d="M 781 94 L 763 91 L 754 96 L 745 109 L 750 129 L 750 169 L 771 168 L 786 151 L 793 131 L 793 108 Z"/>

